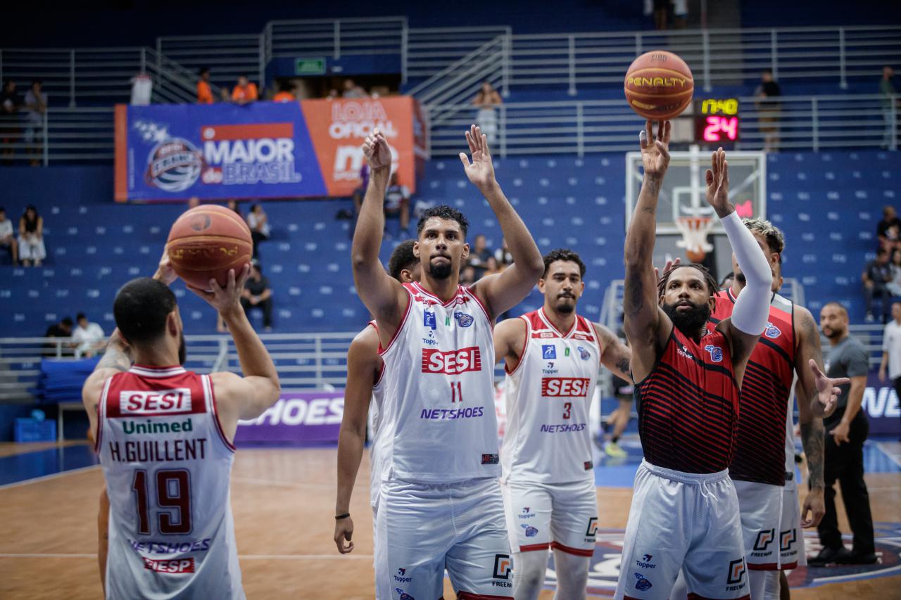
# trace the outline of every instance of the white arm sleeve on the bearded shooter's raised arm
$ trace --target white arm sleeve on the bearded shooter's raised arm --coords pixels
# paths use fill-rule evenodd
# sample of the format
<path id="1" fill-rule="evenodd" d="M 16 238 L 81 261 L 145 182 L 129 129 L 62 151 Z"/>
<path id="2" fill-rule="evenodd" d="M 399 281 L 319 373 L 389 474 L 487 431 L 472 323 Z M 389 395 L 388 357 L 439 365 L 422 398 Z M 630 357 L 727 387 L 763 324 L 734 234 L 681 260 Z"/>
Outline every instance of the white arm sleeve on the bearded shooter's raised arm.
<path id="1" fill-rule="evenodd" d="M 773 273 L 757 240 L 734 211 L 727 214 L 723 229 L 732 244 L 735 259 L 747 280 L 733 308 L 732 323 L 740 332 L 760 335 L 767 326 L 769 299 L 772 296 Z"/>

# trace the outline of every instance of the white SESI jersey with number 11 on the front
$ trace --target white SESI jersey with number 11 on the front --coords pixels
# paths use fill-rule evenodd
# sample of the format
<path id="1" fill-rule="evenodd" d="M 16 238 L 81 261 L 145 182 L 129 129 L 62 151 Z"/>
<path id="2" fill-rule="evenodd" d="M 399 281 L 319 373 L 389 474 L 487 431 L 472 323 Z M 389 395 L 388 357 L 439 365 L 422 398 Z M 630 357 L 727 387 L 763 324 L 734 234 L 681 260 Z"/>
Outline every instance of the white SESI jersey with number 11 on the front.
<path id="1" fill-rule="evenodd" d="M 467 287 L 442 303 L 418 283 L 404 286 L 406 314 L 380 352 L 382 478 L 498 477 L 493 323 Z"/>

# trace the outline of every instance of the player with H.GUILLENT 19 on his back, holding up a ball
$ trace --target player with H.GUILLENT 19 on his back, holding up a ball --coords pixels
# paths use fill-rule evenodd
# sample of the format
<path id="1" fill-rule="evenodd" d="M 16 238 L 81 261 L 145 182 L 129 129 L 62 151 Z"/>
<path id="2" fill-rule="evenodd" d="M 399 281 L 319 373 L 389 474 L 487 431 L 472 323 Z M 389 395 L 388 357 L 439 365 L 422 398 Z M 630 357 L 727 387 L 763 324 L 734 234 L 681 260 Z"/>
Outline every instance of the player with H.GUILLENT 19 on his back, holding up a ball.
<path id="1" fill-rule="evenodd" d="M 109 498 L 107 598 L 243 598 L 229 479 L 239 419 L 278 400 L 278 375 L 241 309 L 250 274 L 192 290 L 222 314 L 241 370 L 196 375 L 168 260 L 114 301 L 116 330 L 82 389 Z M 134 366 L 132 367 L 132 361 Z"/>

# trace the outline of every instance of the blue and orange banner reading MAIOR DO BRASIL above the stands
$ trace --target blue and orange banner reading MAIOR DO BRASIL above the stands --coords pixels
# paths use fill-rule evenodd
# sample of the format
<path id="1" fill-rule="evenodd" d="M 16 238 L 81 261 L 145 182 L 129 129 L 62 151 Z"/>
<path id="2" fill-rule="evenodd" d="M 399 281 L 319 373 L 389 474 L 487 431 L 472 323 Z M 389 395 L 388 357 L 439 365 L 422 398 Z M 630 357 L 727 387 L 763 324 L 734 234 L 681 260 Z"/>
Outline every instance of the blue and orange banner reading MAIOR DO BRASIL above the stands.
<path id="1" fill-rule="evenodd" d="M 415 190 L 425 156 L 413 98 L 115 107 L 115 199 L 348 196 L 364 138 L 385 132 L 398 183 Z"/>

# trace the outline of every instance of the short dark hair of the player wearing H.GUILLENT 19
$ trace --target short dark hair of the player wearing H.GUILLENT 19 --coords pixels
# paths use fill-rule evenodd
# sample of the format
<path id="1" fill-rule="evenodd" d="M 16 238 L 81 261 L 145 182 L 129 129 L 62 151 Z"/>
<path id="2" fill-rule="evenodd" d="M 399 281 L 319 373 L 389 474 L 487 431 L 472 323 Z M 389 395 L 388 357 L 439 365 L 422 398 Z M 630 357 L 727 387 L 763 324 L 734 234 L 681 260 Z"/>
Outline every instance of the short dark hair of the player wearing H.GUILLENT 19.
<path id="1" fill-rule="evenodd" d="M 166 331 L 168 314 L 176 308 L 175 294 L 157 279 L 138 277 L 115 295 L 113 314 L 116 327 L 132 344 L 159 340 Z"/>

